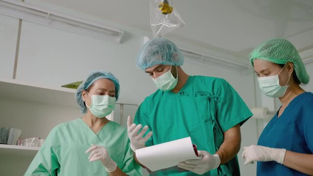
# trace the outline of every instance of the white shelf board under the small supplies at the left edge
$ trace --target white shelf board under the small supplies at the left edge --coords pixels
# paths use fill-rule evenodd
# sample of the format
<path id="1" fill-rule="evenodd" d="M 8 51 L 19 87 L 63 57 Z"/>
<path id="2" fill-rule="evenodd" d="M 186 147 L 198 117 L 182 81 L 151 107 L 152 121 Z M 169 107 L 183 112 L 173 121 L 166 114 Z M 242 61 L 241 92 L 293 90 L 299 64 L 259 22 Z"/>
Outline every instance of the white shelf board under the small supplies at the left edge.
<path id="1" fill-rule="evenodd" d="M 0 156 L 30 156 L 34 157 L 39 151 L 40 147 L 28 147 L 18 145 L 0 144 Z"/>

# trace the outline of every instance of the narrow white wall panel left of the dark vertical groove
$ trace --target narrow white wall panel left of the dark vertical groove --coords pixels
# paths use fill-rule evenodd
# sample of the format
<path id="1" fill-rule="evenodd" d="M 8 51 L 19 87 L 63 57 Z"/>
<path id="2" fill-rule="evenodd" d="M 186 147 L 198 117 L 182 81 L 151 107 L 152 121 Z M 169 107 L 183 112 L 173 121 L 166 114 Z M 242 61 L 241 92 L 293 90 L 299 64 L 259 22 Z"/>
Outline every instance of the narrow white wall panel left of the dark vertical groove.
<path id="1" fill-rule="evenodd" d="M 19 20 L 0 15 L 0 78 L 12 79 Z"/>

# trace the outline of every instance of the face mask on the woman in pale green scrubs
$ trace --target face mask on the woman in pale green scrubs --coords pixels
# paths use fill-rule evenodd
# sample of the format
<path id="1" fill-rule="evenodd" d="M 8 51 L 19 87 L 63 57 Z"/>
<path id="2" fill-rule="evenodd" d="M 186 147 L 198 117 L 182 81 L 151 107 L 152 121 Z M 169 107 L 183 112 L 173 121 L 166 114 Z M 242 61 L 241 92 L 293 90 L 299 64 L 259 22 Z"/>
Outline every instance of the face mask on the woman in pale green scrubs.
<path id="1" fill-rule="evenodd" d="M 103 118 L 111 114 L 115 109 L 115 97 L 111 97 L 109 95 L 90 95 L 89 93 L 88 95 L 91 97 L 91 105 L 88 107 L 86 104 L 86 107 L 89 108 L 91 113 L 96 117 Z"/>

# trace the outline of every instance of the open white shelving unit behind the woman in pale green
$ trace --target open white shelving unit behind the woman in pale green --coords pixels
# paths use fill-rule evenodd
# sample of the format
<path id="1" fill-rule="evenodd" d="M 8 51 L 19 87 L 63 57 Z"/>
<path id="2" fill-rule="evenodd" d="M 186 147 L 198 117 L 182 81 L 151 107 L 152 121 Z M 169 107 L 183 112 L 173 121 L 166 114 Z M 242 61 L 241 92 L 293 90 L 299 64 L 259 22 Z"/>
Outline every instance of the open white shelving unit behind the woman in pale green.
<path id="1" fill-rule="evenodd" d="M 0 88 L 0 127 L 21 129 L 21 138 L 45 139 L 57 124 L 83 116 L 74 98 L 75 89 L 17 80 L 0 80 Z M 126 125 L 127 114 L 134 116 L 136 110 L 135 105 L 117 104 L 113 120 Z M 0 145 L 1 176 L 22 176 L 38 150 L 36 147 Z"/>

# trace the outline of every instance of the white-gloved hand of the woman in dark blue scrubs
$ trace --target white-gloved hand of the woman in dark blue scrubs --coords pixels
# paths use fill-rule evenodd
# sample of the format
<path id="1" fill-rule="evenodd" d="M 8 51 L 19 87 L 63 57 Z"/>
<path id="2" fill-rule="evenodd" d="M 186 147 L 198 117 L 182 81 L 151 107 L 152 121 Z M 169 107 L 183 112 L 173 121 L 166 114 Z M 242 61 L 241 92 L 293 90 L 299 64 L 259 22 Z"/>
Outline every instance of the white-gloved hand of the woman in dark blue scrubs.
<path id="1" fill-rule="evenodd" d="M 244 164 L 253 164 L 254 161 L 276 161 L 283 164 L 286 149 L 274 149 L 264 146 L 251 145 L 243 148 L 242 158 Z"/>

